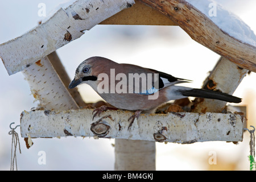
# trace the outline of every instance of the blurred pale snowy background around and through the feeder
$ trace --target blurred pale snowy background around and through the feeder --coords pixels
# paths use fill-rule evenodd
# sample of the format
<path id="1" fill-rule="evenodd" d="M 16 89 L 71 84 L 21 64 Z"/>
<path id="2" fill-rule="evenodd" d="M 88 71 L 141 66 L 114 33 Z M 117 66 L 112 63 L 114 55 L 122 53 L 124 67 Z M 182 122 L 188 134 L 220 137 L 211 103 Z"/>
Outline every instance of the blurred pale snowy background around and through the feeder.
<path id="1" fill-rule="evenodd" d="M 191 1 L 191 0 L 189 0 Z M 64 0 L 9 0 L 0 1 L 0 43 L 16 38 L 37 26 L 43 17 L 38 16 L 39 3 L 46 5 L 46 14 Z M 215 1 L 233 12 L 256 32 L 256 1 Z M 215 17 L 225 18 L 223 14 Z M 249 36 L 245 33 L 246 36 Z M 14 50 L 15 51 L 15 50 Z M 200 88 L 218 56 L 193 41 L 177 26 L 103 26 L 98 25 L 66 46 L 57 49 L 68 75 L 73 78 L 77 65 L 91 56 L 103 56 L 118 63 L 138 64 L 157 69 L 175 77 L 193 80 L 191 86 Z M 22 73 L 9 76 L 0 63 L 0 170 L 10 169 L 11 135 L 9 125 L 19 124 L 20 113 L 36 107 L 30 88 Z M 247 75 L 235 96 L 247 105 L 249 125 L 256 124 L 255 73 Z M 101 98 L 86 85 L 79 87 L 86 102 Z M 13 125 L 13 126 L 15 126 Z M 19 170 L 113 170 L 114 139 L 81 137 L 32 139 L 27 149 L 19 134 L 22 154 L 17 154 Z M 46 164 L 39 164 L 38 153 L 44 151 Z M 18 152 L 18 151 L 17 151 Z M 217 164 L 210 165 L 210 154 L 217 155 Z M 249 134 L 235 145 L 226 142 L 195 144 L 156 143 L 156 169 L 158 170 L 249 170 Z"/>

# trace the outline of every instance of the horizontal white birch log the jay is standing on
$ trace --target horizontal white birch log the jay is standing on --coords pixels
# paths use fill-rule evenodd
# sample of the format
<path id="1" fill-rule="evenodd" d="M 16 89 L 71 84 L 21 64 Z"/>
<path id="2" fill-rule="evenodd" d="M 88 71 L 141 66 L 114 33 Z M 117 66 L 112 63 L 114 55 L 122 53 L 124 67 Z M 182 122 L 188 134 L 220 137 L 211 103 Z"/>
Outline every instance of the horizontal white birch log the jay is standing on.
<path id="1" fill-rule="evenodd" d="M 168 113 L 142 114 L 128 130 L 130 111 L 106 111 L 92 120 L 92 109 L 67 111 L 23 111 L 22 137 L 97 137 L 194 143 L 204 141 L 238 142 L 243 138 L 240 114 Z"/>

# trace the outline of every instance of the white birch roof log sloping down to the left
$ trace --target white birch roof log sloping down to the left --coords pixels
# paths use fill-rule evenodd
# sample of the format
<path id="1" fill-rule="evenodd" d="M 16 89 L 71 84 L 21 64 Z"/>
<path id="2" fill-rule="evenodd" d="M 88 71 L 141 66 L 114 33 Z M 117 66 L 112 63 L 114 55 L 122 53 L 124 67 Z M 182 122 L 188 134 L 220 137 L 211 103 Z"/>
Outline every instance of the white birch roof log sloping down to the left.
<path id="1" fill-rule="evenodd" d="M 134 0 L 78 0 L 59 9 L 46 22 L 0 45 L 0 57 L 9 75 L 22 71 L 57 48 L 80 38 L 84 30 L 131 7 Z"/>

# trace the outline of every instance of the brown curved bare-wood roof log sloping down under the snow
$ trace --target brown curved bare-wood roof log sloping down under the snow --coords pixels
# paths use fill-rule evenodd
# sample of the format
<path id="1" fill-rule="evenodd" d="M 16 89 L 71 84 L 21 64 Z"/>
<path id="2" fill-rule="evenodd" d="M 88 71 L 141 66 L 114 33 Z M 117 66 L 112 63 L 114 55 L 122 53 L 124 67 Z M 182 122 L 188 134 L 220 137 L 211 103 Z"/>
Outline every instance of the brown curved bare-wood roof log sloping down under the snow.
<path id="1" fill-rule="evenodd" d="M 242 43 L 222 31 L 205 14 L 185 0 L 140 0 L 168 16 L 193 40 L 233 61 L 241 68 L 256 72 L 256 47 Z"/>

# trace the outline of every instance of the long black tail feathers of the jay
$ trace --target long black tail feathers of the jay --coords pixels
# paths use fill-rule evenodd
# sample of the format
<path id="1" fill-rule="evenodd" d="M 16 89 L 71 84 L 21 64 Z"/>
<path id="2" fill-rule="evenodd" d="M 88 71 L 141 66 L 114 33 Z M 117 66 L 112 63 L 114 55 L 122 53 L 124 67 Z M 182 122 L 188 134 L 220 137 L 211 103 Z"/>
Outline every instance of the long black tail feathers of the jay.
<path id="1" fill-rule="evenodd" d="M 179 92 L 182 96 L 185 97 L 200 97 L 200 98 L 213 98 L 226 102 L 240 103 L 241 98 L 231 96 L 226 93 L 217 92 L 213 90 L 205 89 L 177 89 L 176 92 Z"/>

